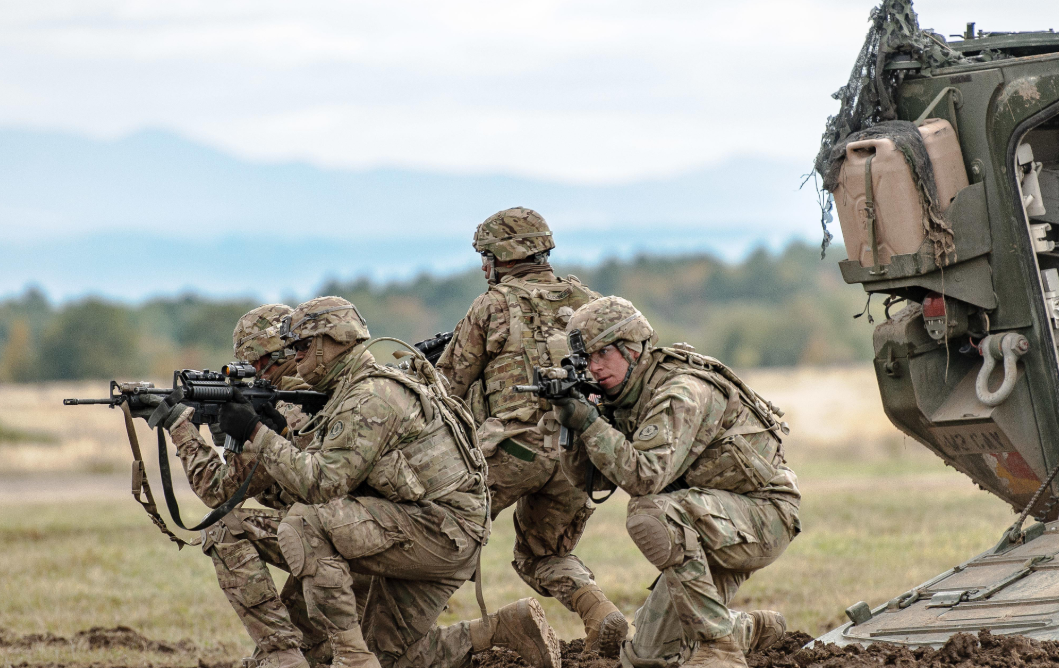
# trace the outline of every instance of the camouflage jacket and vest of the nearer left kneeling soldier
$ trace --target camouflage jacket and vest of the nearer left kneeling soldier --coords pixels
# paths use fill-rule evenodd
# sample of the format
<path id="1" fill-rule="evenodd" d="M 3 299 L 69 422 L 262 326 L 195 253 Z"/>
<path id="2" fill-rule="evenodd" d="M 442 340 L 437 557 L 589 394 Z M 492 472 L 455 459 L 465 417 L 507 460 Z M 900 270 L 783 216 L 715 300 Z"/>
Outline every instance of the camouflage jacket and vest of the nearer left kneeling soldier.
<path id="1" fill-rule="evenodd" d="M 456 443 L 451 425 L 457 418 L 441 400 L 444 389 L 379 366 L 360 346 L 334 365 L 342 372 L 330 400 L 301 430 L 313 437 L 306 450 L 261 429 L 245 452 L 259 451 L 268 473 L 302 503 L 326 503 L 367 483 L 395 501 L 446 505 L 484 531 L 484 473 L 474 482 L 477 472 L 468 472 L 465 462 L 481 453 L 462 454 L 477 451 L 477 440 L 471 434 L 468 443 Z M 472 422 L 469 415 L 462 419 Z"/>

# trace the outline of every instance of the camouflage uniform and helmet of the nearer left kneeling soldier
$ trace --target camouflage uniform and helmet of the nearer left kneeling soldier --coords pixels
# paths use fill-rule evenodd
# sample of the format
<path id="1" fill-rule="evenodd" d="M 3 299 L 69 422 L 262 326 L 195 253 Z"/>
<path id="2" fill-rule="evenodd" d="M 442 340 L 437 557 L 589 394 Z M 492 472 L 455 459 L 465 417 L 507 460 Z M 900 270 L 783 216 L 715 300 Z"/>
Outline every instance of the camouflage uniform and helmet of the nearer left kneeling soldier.
<path id="1" fill-rule="evenodd" d="M 353 308 L 342 303 L 300 306 L 291 335 L 366 339 L 366 326 L 342 313 Z M 343 322 L 352 329 L 336 332 Z M 352 661 L 339 650 L 355 636 L 360 647 L 366 639 L 355 651 L 371 649 L 384 666 L 469 665 L 470 625 L 438 629 L 435 621 L 473 576 L 488 535 L 472 418 L 419 359 L 409 373 L 380 366 L 361 343 L 320 371 L 310 376 L 313 389 L 330 400 L 303 428 L 311 445 L 303 451 L 268 429 L 247 445 L 301 502 L 281 523 L 279 541 L 310 616 L 330 636 L 337 663 Z M 362 614 L 354 574 L 373 578 Z"/>

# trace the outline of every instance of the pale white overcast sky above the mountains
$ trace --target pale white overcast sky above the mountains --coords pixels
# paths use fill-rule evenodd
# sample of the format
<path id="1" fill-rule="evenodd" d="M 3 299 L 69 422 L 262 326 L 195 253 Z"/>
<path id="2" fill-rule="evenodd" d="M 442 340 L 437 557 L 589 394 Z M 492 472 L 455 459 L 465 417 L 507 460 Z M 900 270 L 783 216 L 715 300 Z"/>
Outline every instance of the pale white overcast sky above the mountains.
<path id="1" fill-rule="evenodd" d="M 577 182 L 805 159 L 874 0 L 0 0 L 0 124 Z M 1059 2 L 919 0 L 1059 28 Z"/>

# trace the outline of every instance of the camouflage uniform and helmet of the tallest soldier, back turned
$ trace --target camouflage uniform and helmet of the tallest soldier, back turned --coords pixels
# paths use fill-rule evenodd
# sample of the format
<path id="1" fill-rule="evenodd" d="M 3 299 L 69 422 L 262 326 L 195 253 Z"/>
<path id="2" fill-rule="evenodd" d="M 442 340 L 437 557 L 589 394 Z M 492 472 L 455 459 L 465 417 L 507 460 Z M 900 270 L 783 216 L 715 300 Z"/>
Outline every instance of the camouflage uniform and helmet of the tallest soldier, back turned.
<path id="1" fill-rule="evenodd" d="M 491 216 L 474 235 L 475 250 L 502 261 L 554 246 L 543 219 L 525 209 Z M 571 611 L 580 602 L 584 610 L 595 598 L 575 601 L 575 594 L 587 586 L 598 590 L 592 572 L 571 553 L 593 507 L 562 475 L 557 448 L 545 445 L 537 429 L 550 407 L 515 392 L 515 385 L 530 384 L 534 366 L 559 364 L 569 354 L 567 322 L 599 295 L 575 276 L 558 278 L 549 265 L 534 261 L 490 283 L 456 325 L 437 369 L 452 394 L 472 404 L 482 395 L 475 417 L 489 465 L 492 518 L 515 504 L 515 571 L 534 591 Z"/>

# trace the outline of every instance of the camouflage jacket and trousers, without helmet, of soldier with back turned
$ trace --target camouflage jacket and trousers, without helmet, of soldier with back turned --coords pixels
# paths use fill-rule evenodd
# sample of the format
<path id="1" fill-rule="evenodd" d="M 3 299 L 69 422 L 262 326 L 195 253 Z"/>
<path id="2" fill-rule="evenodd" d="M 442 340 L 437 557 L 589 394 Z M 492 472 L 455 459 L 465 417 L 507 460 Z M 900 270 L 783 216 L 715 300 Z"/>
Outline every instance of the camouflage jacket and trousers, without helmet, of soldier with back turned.
<path id="1" fill-rule="evenodd" d="M 491 286 L 479 296 L 456 325 L 452 341 L 437 361 L 437 371 L 449 379 L 452 393 L 466 396 L 482 380 L 486 393 L 495 397 L 499 394 L 496 391 L 498 386 L 509 391 L 516 384 L 530 382 L 527 361 L 541 360 L 544 356 L 533 331 L 518 324 L 513 325 L 513 321 L 521 319 L 522 307 L 519 307 L 520 313 L 513 315 L 505 290 L 518 286 L 511 289 L 530 293 L 535 286 L 548 286 L 550 291 L 553 286 L 558 286 L 561 289 L 570 287 L 573 292 L 576 288 L 579 293 L 577 299 L 582 304 L 598 296 L 580 286 L 579 282 L 575 284 L 575 281 L 572 277 L 566 281 L 558 278 L 550 267 L 528 265 L 504 276 L 499 286 Z M 562 306 L 571 308 L 569 303 L 570 297 L 554 302 L 556 312 L 548 317 L 561 322 L 557 311 Z M 538 301 L 536 308 L 543 310 L 549 304 L 553 302 Z M 576 306 L 579 304 L 574 303 Z M 518 337 L 511 333 L 516 330 L 519 331 Z M 550 353 L 541 360 L 546 363 L 540 365 L 550 366 L 553 361 L 558 363 L 558 360 L 551 359 L 556 355 L 558 353 Z M 497 361 L 505 356 L 510 364 L 502 367 Z M 542 407 L 548 404 L 541 404 L 533 395 L 514 395 L 513 391 L 509 394 L 521 404 L 505 403 L 507 410 L 498 415 L 493 412 L 498 401 L 487 398 L 488 417 L 478 431 L 482 451 L 489 463 L 492 517 L 515 504 L 516 539 L 511 565 L 534 591 L 555 597 L 573 611 L 573 593 L 595 581 L 585 563 L 571 554 L 592 513 L 591 505 L 588 494 L 571 485 L 559 472 L 557 448 L 545 446 L 537 429 L 537 422 L 544 413 Z M 523 454 L 520 458 L 500 449 L 500 444 L 504 441 L 515 444 L 528 455 Z M 532 461 L 526 461 L 526 456 Z"/>

